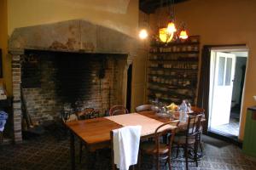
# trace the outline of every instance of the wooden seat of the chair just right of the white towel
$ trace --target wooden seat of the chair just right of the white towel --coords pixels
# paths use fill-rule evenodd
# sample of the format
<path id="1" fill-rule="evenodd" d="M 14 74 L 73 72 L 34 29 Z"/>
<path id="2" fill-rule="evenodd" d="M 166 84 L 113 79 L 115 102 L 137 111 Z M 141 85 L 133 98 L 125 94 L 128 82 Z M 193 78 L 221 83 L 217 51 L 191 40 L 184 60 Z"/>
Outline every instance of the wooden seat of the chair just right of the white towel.
<path id="1" fill-rule="evenodd" d="M 140 147 L 141 147 L 141 150 L 147 154 L 156 154 L 157 153 L 157 149 L 155 148 L 154 141 L 143 142 L 140 145 Z M 160 143 L 159 148 L 160 148 L 159 149 L 160 155 L 164 155 L 164 154 L 168 153 L 168 151 L 169 151 L 168 146 L 166 144 Z"/>

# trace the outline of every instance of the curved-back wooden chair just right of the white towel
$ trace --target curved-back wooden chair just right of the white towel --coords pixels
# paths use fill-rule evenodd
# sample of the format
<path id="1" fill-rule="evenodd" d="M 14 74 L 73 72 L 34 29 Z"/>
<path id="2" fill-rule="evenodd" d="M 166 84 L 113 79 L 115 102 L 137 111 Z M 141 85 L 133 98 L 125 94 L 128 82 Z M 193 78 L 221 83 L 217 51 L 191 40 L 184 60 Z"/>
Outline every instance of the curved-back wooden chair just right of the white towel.
<path id="1" fill-rule="evenodd" d="M 172 142 L 175 136 L 176 128 L 179 121 L 166 122 L 160 127 L 157 127 L 154 131 L 154 140 L 143 142 L 140 146 L 141 154 L 153 155 L 156 161 L 156 168 L 160 169 L 160 161 L 165 160 L 168 163 L 169 169 L 171 169 L 171 155 L 172 155 Z M 174 128 L 167 128 L 166 126 L 175 126 Z M 162 129 L 162 130 L 161 130 Z M 168 135 L 167 144 L 160 142 L 160 139 L 164 135 Z M 140 156 L 141 157 L 141 156 Z"/>

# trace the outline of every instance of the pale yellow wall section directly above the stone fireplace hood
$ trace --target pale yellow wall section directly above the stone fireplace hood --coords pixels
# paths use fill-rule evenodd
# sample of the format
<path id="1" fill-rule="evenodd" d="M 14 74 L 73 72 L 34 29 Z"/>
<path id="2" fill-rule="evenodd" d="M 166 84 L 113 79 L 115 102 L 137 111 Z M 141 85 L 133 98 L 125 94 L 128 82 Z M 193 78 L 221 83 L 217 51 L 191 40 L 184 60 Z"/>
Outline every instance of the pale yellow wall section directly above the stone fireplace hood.
<path id="1" fill-rule="evenodd" d="M 9 35 L 18 27 L 76 19 L 131 36 L 137 31 L 138 0 L 9 0 L 8 9 Z"/>

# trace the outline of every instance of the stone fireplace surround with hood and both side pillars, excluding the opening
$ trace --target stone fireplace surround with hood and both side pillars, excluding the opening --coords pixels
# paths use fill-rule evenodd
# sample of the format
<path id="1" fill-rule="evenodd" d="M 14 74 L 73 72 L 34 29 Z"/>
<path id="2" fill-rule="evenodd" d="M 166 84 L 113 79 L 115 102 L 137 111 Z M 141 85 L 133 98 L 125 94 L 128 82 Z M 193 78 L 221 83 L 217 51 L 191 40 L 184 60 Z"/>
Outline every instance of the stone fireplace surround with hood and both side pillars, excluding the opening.
<path id="1" fill-rule="evenodd" d="M 86 54 L 126 54 L 120 81 L 120 101 L 126 103 L 127 69 L 137 53 L 137 39 L 97 26 L 85 20 L 67 20 L 54 24 L 17 28 L 9 37 L 9 54 L 12 58 L 14 141 L 22 141 L 20 102 L 20 56 L 26 49 L 49 50 Z"/>

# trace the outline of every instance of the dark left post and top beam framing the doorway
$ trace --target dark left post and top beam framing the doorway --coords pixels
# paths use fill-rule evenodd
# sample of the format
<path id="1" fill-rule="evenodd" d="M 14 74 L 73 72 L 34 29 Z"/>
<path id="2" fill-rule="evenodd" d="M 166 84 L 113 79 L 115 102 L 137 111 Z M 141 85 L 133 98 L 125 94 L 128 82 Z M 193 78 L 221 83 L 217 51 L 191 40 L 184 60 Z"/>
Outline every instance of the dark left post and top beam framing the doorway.
<path id="1" fill-rule="evenodd" d="M 197 105 L 205 110 L 206 122 L 203 123 L 203 133 L 208 133 L 209 123 L 209 91 L 210 91 L 210 64 L 211 51 L 214 49 L 234 49 L 234 51 L 247 50 L 246 44 L 224 44 L 224 45 L 204 45 L 201 51 L 201 72 L 198 86 Z"/>

